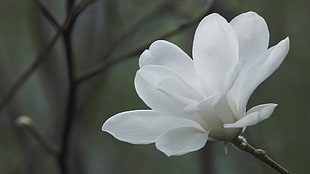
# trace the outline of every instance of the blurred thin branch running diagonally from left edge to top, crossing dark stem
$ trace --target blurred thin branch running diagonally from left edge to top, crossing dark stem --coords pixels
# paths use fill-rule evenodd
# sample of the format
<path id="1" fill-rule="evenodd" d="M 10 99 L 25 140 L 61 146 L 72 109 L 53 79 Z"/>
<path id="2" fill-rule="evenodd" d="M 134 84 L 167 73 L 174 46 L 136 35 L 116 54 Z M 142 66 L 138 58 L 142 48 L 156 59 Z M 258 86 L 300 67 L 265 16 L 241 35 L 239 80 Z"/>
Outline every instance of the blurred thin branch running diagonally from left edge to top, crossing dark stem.
<path id="1" fill-rule="evenodd" d="M 17 77 L 17 79 L 11 84 L 8 90 L 5 92 L 2 100 L 0 101 L 0 111 L 6 105 L 10 99 L 16 94 L 21 86 L 29 79 L 32 73 L 37 69 L 37 67 L 42 63 L 42 61 L 47 57 L 46 55 L 51 51 L 55 45 L 58 38 L 62 35 L 62 32 L 70 26 L 72 22 L 76 20 L 79 14 L 92 2 L 95 0 L 85 0 L 76 6 L 73 12 L 66 18 L 64 24 L 61 28 L 57 30 L 52 39 L 48 42 L 47 46 L 44 47 L 35 58 L 35 60 L 26 68 L 26 70 Z"/>

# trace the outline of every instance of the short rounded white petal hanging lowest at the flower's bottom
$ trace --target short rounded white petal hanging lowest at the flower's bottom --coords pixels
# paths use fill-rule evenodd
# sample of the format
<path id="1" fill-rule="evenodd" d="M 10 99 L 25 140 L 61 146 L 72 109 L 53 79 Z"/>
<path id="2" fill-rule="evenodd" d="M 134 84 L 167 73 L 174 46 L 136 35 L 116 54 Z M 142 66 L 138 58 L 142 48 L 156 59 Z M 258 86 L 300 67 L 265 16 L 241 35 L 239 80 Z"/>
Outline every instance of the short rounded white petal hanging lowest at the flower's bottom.
<path id="1" fill-rule="evenodd" d="M 182 127 L 168 131 L 156 140 L 158 150 L 167 156 L 183 155 L 201 149 L 207 143 L 208 132 L 197 127 Z"/>

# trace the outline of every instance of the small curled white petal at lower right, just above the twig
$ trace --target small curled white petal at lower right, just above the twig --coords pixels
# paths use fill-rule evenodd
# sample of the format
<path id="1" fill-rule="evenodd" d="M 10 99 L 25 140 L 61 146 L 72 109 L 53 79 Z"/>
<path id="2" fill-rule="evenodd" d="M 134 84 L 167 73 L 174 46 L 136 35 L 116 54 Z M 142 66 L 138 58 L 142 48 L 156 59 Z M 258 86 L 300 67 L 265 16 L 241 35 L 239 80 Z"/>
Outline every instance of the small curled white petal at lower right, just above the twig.
<path id="1" fill-rule="evenodd" d="M 255 125 L 269 118 L 277 104 L 263 104 L 253 107 L 247 112 L 247 115 L 235 123 L 224 124 L 224 128 L 242 128 Z"/>

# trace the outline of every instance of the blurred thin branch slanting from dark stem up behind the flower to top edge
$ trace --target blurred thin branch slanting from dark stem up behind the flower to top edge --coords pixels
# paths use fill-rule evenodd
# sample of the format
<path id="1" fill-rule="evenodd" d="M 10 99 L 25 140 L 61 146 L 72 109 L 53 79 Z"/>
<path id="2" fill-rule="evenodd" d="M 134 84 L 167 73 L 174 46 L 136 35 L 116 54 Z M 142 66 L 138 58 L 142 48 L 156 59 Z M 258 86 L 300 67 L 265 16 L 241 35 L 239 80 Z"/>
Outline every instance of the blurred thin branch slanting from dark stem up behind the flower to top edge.
<path id="1" fill-rule="evenodd" d="M 212 2 L 213 1 L 209 1 L 210 3 L 208 4 L 208 6 L 203 10 L 202 13 L 200 13 L 199 15 L 197 15 L 196 17 L 180 24 L 178 27 L 176 27 L 175 29 L 164 33 L 162 35 L 160 35 L 159 37 L 157 37 L 157 39 L 165 39 L 165 38 L 169 38 L 171 36 L 174 36 L 182 31 L 184 31 L 185 29 L 191 27 L 192 25 L 198 23 L 201 18 L 203 18 L 208 11 L 210 10 L 211 6 L 212 6 Z M 121 62 L 127 58 L 136 56 L 138 54 L 140 54 L 143 50 L 145 50 L 149 45 L 151 45 L 155 40 L 151 40 L 151 41 L 147 41 L 144 44 L 142 44 L 141 46 L 130 50 L 129 52 L 126 52 L 124 54 L 121 54 L 119 56 L 116 56 L 114 58 L 111 59 L 107 59 L 106 61 L 104 61 L 101 64 L 97 64 L 95 66 L 93 66 L 90 70 L 86 71 L 85 73 L 83 73 L 82 75 L 80 75 L 77 79 L 76 79 L 76 83 L 83 83 L 88 79 L 91 79 L 92 77 L 95 77 L 96 75 L 104 72 L 108 67 L 110 67 L 111 65 L 114 65 L 118 62 Z"/>

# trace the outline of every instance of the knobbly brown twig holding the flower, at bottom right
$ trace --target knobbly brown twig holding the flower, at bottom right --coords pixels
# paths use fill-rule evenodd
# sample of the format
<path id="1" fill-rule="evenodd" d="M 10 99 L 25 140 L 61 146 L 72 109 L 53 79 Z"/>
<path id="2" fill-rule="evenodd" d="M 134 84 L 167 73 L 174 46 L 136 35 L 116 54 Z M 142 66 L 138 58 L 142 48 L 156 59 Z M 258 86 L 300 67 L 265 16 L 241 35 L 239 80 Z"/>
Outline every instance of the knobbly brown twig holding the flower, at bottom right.
<path id="1" fill-rule="evenodd" d="M 238 149 L 254 155 L 256 158 L 260 159 L 279 173 L 291 174 L 291 172 L 289 172 L 286 168 L 271 159 L 263 149 L 257 149 L 250 145 L 244 137 L 238 136 L 237 138 L 233 139 L 231 143 L 235 145 Z"/>

